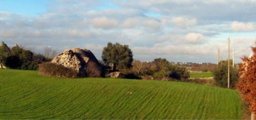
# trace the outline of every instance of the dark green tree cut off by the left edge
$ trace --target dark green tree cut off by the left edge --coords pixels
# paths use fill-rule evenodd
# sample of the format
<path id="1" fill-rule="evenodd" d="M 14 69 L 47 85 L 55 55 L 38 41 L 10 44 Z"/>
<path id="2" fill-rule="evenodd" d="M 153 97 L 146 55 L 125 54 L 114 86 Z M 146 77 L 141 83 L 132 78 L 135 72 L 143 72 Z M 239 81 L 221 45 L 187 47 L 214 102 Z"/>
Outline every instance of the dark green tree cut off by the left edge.
<path id="1" fill-rule="evenodd" d="M 3 68 L 3 62 L 6 60 L 6 57 L 10 53 L 10 48 L 2 42 L 0 46 L 0 68 Z"/>

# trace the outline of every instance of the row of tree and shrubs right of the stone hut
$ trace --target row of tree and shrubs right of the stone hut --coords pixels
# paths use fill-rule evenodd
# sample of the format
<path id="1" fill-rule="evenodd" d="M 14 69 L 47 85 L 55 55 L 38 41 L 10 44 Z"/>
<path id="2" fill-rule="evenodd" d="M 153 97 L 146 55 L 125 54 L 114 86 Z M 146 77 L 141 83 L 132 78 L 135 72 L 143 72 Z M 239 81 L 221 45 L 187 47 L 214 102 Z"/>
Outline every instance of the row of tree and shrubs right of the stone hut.
<path id="1" fill-rule="evenodd" d="M 132 50 L 128 45 L 108 43 L 102 51 L 102 60 L 110 72 L 120 71 L 127 78 L 154 77 L 153 79 L 187 79 L 189 72 L 185 67 L 171 64 L 165 58 L 152 62 L 133 60 Z"/>

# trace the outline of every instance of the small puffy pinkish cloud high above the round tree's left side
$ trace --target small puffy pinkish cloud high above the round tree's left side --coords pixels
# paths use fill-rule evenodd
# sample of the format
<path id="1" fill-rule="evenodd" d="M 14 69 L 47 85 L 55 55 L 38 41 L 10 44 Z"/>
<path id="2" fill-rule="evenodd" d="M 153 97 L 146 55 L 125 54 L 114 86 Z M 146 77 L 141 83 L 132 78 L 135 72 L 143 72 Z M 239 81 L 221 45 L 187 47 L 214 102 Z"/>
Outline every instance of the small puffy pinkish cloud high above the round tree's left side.
<path id="1" fill-rule="evenodd" d="M 118 21 L 107 17 L 96 17 L 92 19 L 92 25 L 96 28 L 112 28 L 118 25 Z"/>

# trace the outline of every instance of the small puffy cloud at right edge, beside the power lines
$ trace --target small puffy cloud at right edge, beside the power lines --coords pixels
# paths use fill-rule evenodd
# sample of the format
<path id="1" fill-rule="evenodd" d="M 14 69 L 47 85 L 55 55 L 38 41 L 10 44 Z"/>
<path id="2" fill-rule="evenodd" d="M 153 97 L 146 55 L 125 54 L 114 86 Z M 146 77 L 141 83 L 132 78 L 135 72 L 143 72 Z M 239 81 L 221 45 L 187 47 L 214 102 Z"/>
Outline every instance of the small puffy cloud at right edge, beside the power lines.
<path id="1" fill-rule="evenodd" d="M 234 21 L 231 24 L 233 31 L 253 31 L 255 30 L 255 25 L 253 23 L 243 23 Z"/>

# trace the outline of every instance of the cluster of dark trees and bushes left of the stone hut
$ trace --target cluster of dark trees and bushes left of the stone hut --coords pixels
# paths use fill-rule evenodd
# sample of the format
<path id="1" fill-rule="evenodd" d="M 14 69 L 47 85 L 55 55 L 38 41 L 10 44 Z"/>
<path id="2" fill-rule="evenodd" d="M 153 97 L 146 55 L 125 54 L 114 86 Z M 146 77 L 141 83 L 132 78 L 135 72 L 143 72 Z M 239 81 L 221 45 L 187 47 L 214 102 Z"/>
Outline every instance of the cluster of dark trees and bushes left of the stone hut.
<path id="1" fill-rule="evenodd" d="M 56 52 L 50 48 L 45 49 L 45 54 L 37 54 L 26 48 L 15 45 L 9 48 L 4 42 L 0 46 L 0 67 L 21 70 L 37 70 L 38 64 L 52 60 Z M 45 55 L 48 55 L 46 57 Z"/>

